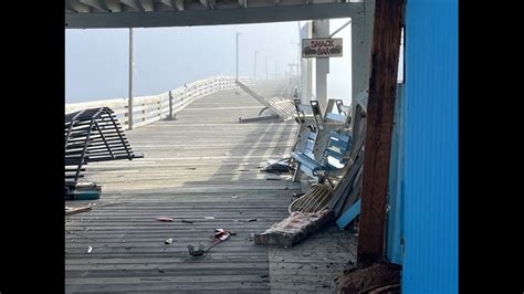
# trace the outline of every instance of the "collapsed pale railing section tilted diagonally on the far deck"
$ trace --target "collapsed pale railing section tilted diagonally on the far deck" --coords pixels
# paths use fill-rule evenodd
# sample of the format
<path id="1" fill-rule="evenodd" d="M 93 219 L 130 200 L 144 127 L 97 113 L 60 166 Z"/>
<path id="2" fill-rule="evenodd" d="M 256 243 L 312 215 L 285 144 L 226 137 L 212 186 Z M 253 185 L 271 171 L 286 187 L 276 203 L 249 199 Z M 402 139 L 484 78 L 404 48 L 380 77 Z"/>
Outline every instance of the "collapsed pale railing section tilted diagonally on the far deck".
<path id="1" fill-rule="evenodd" d="M 295 106 L 293 101 L 285 97 L 277 97 L 274 96 L 272 98 L 264 98 L 261 95 L 256 94 L 253 90 L 249 88 L 245 84 L 240 81 L 234 82 L 240 88 L 242 88 L 245 93 L 248 93 L 251 97 L 255 98 L 264 108 L 261 109 L 259 113 L 259 117 L 253 118 L 239 118 L 239 123 L 248 123 L 248 122 L 255 122 L 255 120 L 265 120 L 265 119 L 274 119 L 274 118 L 282 118 L 284 120 L 292 119 L 296 116 Z M 261 116 L 265 109 L 270 109 L 274 113 L 274 115 L 270 116 Z"/>

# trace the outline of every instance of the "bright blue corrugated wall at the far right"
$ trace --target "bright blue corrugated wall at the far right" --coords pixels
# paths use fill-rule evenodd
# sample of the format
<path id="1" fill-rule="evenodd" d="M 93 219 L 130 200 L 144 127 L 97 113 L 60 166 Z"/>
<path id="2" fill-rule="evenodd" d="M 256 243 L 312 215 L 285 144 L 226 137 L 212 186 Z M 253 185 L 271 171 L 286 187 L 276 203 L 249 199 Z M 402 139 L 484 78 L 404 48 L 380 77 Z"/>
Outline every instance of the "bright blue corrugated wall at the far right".
<path id="1" fill-rule="evenodd" d="M 407 0 L 402 293 L 458 292 L 458 0 Z"/>

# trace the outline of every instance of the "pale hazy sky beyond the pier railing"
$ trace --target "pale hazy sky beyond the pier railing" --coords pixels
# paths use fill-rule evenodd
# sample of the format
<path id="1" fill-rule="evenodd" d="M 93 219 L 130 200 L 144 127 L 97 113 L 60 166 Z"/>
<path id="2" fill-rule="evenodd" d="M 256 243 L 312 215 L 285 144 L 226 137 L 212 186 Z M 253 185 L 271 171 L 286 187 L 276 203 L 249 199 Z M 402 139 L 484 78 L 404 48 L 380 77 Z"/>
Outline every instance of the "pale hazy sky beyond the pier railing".
<path id="1" fill-rule="evenodd" d="M 331 21 L 335 31 L 347 19 Z M 304 21 L 301 22 L 301 25 Z M 273 77 L 289 71 L 297 57 L 298 22 L 134 29 L 134 95 L 155 95 L 213 75 L 235 72 L 235 32 L 239 75 Z M 65 102 L 124 98 L 128 92 L 128 29 L 65 30 Z M 344 38 L 344 57 L 332 59 L 328 96 L 350 95 L 350 29 Z"/>

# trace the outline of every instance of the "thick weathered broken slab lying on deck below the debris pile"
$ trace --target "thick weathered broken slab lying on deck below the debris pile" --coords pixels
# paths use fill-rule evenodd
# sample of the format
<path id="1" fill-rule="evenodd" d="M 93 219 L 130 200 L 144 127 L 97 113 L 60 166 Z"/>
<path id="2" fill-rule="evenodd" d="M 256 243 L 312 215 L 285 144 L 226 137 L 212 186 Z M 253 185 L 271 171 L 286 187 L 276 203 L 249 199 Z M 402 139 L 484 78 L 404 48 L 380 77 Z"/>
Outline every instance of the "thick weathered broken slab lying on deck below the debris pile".
<path id="1" fill-rule="evenodd" d="M 265 232 L 254 234 L 254 243 L 293 246 L 307 235 L 318 231 L 333 218 L 333 211 L 327 209 L 318 212 L 293 212 Z"/>

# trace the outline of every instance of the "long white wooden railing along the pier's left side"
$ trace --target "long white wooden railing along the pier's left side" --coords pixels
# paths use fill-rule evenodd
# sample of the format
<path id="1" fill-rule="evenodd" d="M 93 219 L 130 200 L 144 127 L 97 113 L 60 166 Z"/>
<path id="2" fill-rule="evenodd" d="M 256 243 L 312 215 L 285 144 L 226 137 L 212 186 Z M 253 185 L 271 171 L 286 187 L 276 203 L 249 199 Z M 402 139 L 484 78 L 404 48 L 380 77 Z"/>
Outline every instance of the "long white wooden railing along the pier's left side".
<path id="1" fill-rule="evenodd" d="M 254 84 L 254 81 L 249 77 L 240 77 L 239 81 L 247 85 Z M 137 128 L 163 118 L 172 119 L 178 112 L 184 109 L 191 102 L 222 90 L 237 87 L 234 77 L 213 76 L 186 84 L 185 86 L 159 95 L 133 97 L 132 126 L 133 128 Z M 95 107 L 109 107 L 115 112 L 120 124 L 125 126 L 129 124 L 127 98 L 65 104 L 65 113 Z"/>

